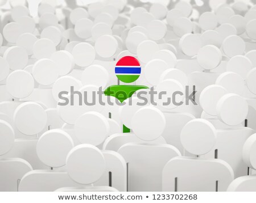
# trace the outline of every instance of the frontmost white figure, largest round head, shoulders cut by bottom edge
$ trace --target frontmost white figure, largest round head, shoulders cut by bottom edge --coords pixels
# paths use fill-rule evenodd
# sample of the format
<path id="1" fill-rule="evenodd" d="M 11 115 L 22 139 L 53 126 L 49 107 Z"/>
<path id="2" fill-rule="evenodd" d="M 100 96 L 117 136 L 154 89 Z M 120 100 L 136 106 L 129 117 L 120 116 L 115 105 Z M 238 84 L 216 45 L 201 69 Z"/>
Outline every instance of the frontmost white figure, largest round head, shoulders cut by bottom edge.
<path id="1" fill-rule="evenodd" d="M 74 147 L 67 156 L 67 172 L 69 177 L 80 187 L 59 188 L 59 192 L 117 192 L 111 186 L 95 186 L 106 170 L 106 160 L 101 150 L 93 145 L 81 144 Z M 111 184 L 110 184 L 111 185 Z"/>

